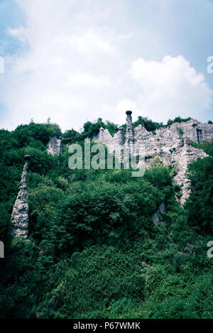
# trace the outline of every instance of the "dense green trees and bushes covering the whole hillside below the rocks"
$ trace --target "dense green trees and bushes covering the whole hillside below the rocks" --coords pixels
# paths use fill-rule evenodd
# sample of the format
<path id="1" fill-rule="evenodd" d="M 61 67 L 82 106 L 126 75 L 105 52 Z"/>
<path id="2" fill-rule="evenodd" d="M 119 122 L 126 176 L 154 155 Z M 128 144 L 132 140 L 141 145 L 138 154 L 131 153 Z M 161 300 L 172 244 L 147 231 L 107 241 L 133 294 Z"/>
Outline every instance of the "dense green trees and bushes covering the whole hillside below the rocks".
<path id="1" fill-rule="evenodd" d="M 116 131 L 97 123 L 84 124 L 82 136 L 62 136 L 81 141 L 100 124 Z M 180 207 L 173 170 L 155 163 L 143 178 L 130 170 L 70 170 L 65 145 L 59 156 L 45 150 L 53 134 L 61 135 L 57 125 L 33 122 L 0 131 L 0 317 L 211 318 L 213 144 L 204 145 L 209 157 L 190 165 L 192 194 Z M 26 153 L 33 156 L 29 238 L 11 240 Z M 155 226 L 161 202 L 167 212 Z"/>

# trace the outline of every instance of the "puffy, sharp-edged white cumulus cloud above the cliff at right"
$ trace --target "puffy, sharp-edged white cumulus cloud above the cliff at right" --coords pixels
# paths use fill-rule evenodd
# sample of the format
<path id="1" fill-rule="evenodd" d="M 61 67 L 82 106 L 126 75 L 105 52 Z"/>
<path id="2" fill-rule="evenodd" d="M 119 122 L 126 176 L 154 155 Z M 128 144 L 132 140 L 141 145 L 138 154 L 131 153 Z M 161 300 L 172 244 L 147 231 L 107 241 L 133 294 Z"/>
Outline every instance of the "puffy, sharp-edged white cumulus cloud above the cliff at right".
<path id="1" fill-rule="evenodd" d="M 119 102 L 122 107 L 133 104 L 137 115 L 166 121 L 174 116 L 199 118 L 212 104 L 213 91 L 182 55 L 167 55 L 160 61 L 134 60 L 129 70 L 141 92 L 136 101 Z M 130 103 L 131 102 L 131 103 Z M 135 115 L 136 115 L 135 114 Z"/>

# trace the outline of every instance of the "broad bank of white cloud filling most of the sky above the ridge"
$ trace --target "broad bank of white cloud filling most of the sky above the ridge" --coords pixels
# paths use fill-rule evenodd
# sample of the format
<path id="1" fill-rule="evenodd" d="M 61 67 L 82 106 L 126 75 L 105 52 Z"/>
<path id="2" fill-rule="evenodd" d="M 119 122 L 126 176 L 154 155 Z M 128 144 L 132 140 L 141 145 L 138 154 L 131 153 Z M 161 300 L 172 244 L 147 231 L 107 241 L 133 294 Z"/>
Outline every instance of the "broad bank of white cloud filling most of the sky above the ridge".
<path id="1" fill-rule="evenodd" d="M 158 11 L 150 0 L 141 1 L 138 22 L 131 1 L 16 1 L 26 22 L 6 32 L 23 50 L 5 58 L 0 100 L 8 114 L 1 126 L 13 129 L 49 116 L 63 130 L 98 117 L 124 124 L 126 109 L 133 119 L 167 121 L 179 114 L 202 120 L 209 110 L 212 90 L 184 57 L 148 60 L 153 54 L 160 59 L 165 41 L 161 22 L 151 28 Z"/>

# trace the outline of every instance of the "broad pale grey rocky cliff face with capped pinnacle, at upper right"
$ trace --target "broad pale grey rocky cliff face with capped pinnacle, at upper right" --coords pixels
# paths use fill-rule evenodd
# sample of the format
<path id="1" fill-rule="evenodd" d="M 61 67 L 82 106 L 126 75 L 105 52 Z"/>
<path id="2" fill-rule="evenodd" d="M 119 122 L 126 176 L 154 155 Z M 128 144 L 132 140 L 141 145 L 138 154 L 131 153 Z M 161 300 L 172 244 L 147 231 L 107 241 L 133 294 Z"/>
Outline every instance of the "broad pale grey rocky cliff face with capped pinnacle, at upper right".
<path id="1" fill-rule="evenodd" d="M 126 136 L 119 129 L 112 137 L 108 130 L 101 128 L 93 141 L 101 141 L 109 147 L 110 151 L 116 151 L 122 144 L 129 144 L 129 142 L 134 142 L 137 146 L 145 145 L 146 168 L 155 158 L 158 158 L 165 165 L 175 167 L 175 180 L 182 190 L 182 195 L 178 200 L 180 204 L 183 204 L 189 196 L 187 179 L 185 178 L 187 166 L 193 160 L 207 156 L 202 149 L 193 148 L 191 142 L 211 141 L 213 124 L 202 124 L 195 119 L 190 119 L 186 122 L 175 122 L 170 126 L 160 127 L 153 134 L 146 131 L 145 127 L 141 125 L 133 129 L 129 112 L 131 111 L 126 111 Z"/>

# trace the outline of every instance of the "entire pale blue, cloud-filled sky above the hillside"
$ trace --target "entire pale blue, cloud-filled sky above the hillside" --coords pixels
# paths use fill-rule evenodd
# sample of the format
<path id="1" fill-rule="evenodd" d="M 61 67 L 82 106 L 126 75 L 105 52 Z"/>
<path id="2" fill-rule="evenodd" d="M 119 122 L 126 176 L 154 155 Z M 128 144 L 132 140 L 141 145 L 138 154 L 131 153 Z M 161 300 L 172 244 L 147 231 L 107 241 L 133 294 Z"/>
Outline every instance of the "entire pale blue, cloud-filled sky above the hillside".
<path id="1" fill-rule="evenodd" d="M 212 120 L 212 17 L 211 0 L 0 0 L 0 128 Z"/>

